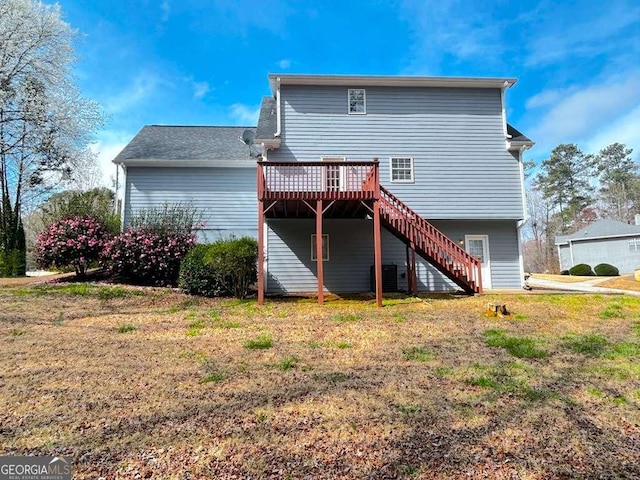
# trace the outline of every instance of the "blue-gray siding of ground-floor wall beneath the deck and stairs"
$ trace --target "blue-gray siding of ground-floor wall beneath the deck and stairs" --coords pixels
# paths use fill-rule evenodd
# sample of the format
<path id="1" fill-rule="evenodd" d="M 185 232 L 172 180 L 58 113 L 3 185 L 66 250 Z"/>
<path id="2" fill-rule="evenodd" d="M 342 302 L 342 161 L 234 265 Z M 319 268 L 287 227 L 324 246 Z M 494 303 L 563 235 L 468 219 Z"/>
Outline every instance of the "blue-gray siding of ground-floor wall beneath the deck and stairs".
<path id="1" fill-rule="evenodd" d="M 317 291 L 316 262 L 311 261 L 314 220 L 270 219 L 267 222 L 267 292 Z M 493 288 L 522 285 L 515 222 L 442 222 L 443 231 L 457 239 L 464 234 L 488 234 Z M 373 257 L 373 223 L 370 220 L 327 219 L 329 260 L 324 262 L 325 290 L 335 293 L 370 291 Z M 514 240 L 515 239 L 515 240 Z M 398 288 L 406 291 L 406 249 L 386 229 L 382 231 L 383 264 L 397 265 Z M 452 291 L 454 285 L 424 259 L 417 257 L 420 291 Z"/>

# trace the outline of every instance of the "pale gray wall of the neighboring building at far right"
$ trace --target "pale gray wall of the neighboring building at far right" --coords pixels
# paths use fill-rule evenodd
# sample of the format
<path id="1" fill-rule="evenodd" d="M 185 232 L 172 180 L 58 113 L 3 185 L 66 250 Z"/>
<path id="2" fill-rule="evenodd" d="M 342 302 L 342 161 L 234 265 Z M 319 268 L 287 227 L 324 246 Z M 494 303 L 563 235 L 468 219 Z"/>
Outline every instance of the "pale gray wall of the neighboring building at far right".
<path id="1" fill-rule="evenodd" d="M 591 268 L 599 263 L 608 263 L 616 267 L 621 274 L 633 273 L 640 268 L 640 250 L 629 249 L 629 241 L 638 237 L 620 237 L 598 240 L 583 240 L 560 246 L 560 266 L 562 270 L 569 269 L 579 263 L 586 263 Z M 573 252 L 573 262 L 571 253 Z"/>

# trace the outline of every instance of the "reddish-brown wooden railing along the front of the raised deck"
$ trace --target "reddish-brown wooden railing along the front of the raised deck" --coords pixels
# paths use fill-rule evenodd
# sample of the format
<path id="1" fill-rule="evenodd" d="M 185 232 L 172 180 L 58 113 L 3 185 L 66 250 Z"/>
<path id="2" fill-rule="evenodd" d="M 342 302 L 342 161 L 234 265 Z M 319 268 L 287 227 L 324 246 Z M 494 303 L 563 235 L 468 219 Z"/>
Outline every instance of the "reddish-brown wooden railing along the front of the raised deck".
<path id="1" fill-rule="evenodd" d="M 378 162 L 258 161 L 259 200 L 378 198 Z"/>

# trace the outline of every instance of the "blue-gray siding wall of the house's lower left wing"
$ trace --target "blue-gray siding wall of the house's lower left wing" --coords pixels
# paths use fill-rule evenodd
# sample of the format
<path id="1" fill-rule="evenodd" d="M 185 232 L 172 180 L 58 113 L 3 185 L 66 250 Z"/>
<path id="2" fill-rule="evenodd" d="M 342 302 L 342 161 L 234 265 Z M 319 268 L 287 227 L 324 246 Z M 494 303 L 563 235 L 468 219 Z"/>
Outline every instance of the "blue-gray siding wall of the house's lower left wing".
<path id="1" fill-rule="evenodd" d="M 257 237 L 253 168 L 127 168 L 125 225 L 130 212 L 164 203 L 191 203 L 198 209 L 204 222 L 201 242 L 231 234 Z"/>

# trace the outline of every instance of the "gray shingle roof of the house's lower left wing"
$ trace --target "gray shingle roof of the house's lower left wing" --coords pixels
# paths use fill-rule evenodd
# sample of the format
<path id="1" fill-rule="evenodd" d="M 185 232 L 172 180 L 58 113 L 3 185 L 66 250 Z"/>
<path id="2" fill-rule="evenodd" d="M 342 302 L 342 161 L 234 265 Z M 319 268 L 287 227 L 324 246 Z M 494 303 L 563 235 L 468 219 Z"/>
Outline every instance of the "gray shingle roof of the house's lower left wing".
<path id="1" fill-rule="evenodd" d="M 245 130 L 255 132 L 253 127 L 146 125 L 113 162 L 125 165 L 254 162 L 249 147 L 242 142 Z"/>

